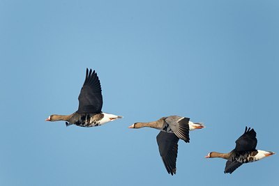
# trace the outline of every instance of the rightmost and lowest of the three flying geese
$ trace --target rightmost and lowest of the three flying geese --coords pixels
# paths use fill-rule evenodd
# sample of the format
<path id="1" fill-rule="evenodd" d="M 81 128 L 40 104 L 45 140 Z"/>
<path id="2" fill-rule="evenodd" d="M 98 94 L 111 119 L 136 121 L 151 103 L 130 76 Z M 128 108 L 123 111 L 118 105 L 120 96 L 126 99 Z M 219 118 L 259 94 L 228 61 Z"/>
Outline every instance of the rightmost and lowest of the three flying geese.
<path id="1" fill-rule="evenodd" d="M 206 158 L 220 157 L 227 160 L 224 173 L 232 173 L 242 164 L 256 162 L 264 157 L 274 155 L 275 153 L 271 151 L 256 150 L 256 134 L 254 129 L 246 127 L 244 134 L 235 141 L 234 150 L 230 153 L 211 152 L 206 155 Z"/>

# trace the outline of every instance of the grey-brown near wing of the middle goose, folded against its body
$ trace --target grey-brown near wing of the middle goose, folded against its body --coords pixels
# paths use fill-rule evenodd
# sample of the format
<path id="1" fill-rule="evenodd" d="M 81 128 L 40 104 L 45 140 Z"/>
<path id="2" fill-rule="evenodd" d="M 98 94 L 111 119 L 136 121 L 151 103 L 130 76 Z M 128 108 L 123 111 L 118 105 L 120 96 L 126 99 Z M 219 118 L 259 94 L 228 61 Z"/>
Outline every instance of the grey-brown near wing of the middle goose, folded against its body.
<path id="1" fill-rule="evenodd" d="M 189 121 L 190 118 L 181 118 L 179 116 L 169 116 L 165 119 L 165 122 L 169 124 L 172 132 L 174 132 L 174 134 L 176 134 L 176 136 L 180 139 L 183 139 L 186 143 L 190 142 Z"/>

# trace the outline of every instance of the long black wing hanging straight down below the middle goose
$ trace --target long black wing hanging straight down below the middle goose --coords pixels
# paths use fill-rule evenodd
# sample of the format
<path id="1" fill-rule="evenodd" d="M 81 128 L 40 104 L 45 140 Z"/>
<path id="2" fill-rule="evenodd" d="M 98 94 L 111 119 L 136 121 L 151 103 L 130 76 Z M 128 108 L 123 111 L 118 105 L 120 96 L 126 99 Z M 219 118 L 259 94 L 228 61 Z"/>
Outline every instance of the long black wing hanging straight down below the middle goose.
<path id="1" fill-rule="evenodd" d="M 160 156 L 165 164 L 167 173 L 174 175 L 176 173 L 176 157 L 178 151 L 179 138 L 174 133 L 161 131 L 157 137 Z"/>

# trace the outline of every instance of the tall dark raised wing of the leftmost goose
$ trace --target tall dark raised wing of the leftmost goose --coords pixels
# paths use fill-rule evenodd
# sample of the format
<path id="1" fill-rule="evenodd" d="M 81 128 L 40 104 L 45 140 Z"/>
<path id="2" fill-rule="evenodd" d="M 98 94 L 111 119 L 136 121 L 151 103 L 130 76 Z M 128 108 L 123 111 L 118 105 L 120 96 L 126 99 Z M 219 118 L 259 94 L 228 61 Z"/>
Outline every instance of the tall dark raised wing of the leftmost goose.
<path id="1" fill-rule="evenodd" d="M 86 68 L 86 77 L 78 100 L 80 102 L 78 113 L 100 113 L 102 111 L 102 89 L 95 70 L 92 72 L 90 69 L 88 72 L 88 68 Z"/>

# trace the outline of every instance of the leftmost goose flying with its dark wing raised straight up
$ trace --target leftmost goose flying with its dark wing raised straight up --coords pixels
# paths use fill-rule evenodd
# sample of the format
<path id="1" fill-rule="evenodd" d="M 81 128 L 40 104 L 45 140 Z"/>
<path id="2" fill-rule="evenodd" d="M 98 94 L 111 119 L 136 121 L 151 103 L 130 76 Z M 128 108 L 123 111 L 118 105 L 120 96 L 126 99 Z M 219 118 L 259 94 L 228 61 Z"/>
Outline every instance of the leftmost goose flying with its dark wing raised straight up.
<path id="1" fill-rule="evenodd" d="M 96 127 L 122 118 L 102 111 L 103 96 L 100 80 L 95 70 L 86 68 L 84 84 L 78 97 L 79 107 L 70 115 L 52 114 L 45 121 L 66 121 L 66 126 Z"/>

